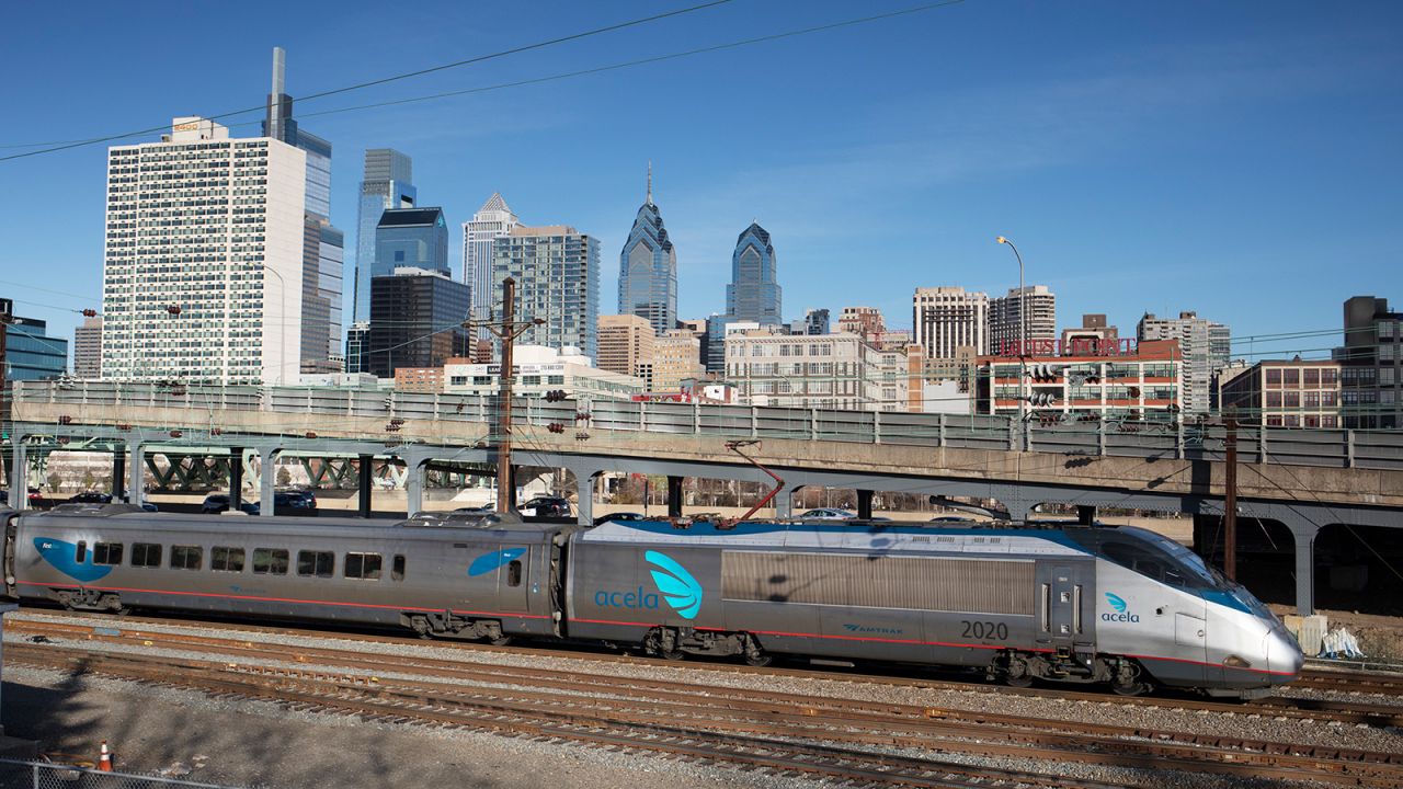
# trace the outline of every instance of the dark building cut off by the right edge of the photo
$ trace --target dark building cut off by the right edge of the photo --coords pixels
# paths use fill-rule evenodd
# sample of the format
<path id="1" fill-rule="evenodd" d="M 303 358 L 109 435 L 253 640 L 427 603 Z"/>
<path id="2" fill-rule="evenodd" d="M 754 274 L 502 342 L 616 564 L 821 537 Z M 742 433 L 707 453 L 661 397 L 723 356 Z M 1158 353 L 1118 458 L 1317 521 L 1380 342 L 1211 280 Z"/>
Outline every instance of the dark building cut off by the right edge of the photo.
<path id="1" fill-rule="evenodd" d="M 1403 313 L 1388 299 L 1354 296 L 1344 302 L 1341 364 L 1344 427 L 1403 427 Z"/>

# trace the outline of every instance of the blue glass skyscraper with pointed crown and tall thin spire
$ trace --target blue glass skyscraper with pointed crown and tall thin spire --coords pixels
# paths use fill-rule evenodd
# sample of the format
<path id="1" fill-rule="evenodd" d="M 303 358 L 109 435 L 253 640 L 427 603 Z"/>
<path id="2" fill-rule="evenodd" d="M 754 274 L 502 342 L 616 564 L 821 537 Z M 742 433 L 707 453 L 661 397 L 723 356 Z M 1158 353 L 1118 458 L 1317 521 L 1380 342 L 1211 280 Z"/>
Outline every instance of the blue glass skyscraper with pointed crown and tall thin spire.
<path id="1" fill-rule="evenodd" d="M 647 198 L 619 253 L 619 314 L 647 319 L 654 334 L 673 329 L 678 321 L 678 251 L 652 204 L 652 163 Z"/>

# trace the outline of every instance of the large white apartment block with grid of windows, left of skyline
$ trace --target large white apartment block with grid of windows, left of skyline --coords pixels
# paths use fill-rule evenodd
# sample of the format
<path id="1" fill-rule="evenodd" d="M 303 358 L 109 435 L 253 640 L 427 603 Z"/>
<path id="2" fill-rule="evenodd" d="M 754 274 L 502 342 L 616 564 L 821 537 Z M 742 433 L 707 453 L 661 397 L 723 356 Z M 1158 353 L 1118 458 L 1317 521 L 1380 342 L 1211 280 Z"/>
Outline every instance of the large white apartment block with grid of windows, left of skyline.
<path id="1" fill-rule="evenodd" d="M 102 378 L 295 380 L 306 208 L 307 153 L 281 139 L 187 117 L 109 147 Z"/>

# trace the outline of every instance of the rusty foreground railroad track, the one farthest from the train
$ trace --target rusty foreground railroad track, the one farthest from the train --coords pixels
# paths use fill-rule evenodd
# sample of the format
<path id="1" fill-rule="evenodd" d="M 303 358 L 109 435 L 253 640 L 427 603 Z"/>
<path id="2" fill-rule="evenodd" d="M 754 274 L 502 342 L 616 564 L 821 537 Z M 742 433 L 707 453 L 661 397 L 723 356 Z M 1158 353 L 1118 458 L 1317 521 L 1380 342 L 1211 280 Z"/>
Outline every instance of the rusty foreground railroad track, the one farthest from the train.
<path id="1" fill-rule="evenodd" d="M 666 724 L 678 733 L 727 734 L 732 737 L 840 743 L 846 748 L 898 747 L 929 752 L 932 747 L 991 758 L 1030 758 L 1052 762 L 1104 764 L 1141 769 L 1184 769 L 1233 776 L 1315 779 L 1351 786 L 1396 786 L 1403 783 L 1403 758 L 1347 748 L 1322 748 L 1237 737 L 1202 736 L 1153 729 L 1055 722 L 1012 715 L 992 715 L 913 705 L 819 699 L 811 695 L 756 692 L 697 682 L 616 678 L 598 672 L 571 672 L 487 665 L 434 657 L 373 656 L 352 650 L 255 644 L 180 633 L 116 630 L 90 626 L 14 621 L 24 632 L 46 630 L 63 639 L 126 642 L 160 649 L 206 651 L 219 660 L 173 661 L 209 672 L 254 675 L 272 682 L 327 682 L 325 671 L 309 672 L 288 664 L 304 663 L 328 670 L 373 671 L 335 679 L 338 694 L 361 694 L 396 703 L 408 702 L 418 710 L 480 715 L 542 716 L 571 726 L 626 724 L 651 731 Z M 11 647 L 17 649 L 17 647 Z M 60 660 L 69 650 L 31 647 L 8 657 Z M 39 650 L 39 651 L 35 651 Z M 58 657 L 56 657 L 58 656 Z M 230 657 L 239 663 L 230 663 Z M 65 665 L 109 667 L 130 656 L 83 651 L 69 656 Z M 166 658 L 171 661 L 173 658 Z M 74 663 L 76 661 L 76 663 Z M 282 664 L 282 667 L 276 667 Z M 651 665 L 661 665 L 650 661 Z M 167 668 L 170 671 L 170 668 Z M 692 674 L 692 672 L 689 672 Z M 309 678 L 310 677 L 310 678 Z M 140 677 L 137 677 L 140 678 Z M 150 678 L 150 677 L 147 677 Z M 227 677 L 224 677 L 227 679 Z M 243 681 L 243 679 L 241 679 Z M 470 685 L 464 685 L 470 684 Z M 550 688 L 549 692 L 525 688 Z M 591 694 L 607 694 L 606 699 Z M 1104 698 L 1103 698 L 1104 701 Z M 334 706 L 334 705 L 333 705 Z M 1242 713 L 1242 705 L 1230 705 Z M 1273 710 L 1277 712 L 1277 710 Z M 581 717 L 585 716 L 585 717 Z M 414 716 L 410 716 L 414 717 Z M 929 776 L 926 776 L 929 778 Z"/>

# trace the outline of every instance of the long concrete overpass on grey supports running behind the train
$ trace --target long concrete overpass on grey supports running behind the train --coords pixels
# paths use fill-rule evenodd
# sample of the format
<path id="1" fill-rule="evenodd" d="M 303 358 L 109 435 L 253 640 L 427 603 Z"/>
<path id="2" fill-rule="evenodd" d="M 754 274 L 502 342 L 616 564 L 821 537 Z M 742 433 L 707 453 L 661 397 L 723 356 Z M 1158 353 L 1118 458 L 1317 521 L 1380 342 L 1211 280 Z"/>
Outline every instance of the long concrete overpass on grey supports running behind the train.
<path id="1" fill-rule="evenodd" d="M 417 510 L 428 463 L 497 462 L 492 417 L 491 399 L 448 394 L 25 382 L 14 402 L 14 473 L 28 452 L 95 441 L 130 455 L 129 487 L 139 491 L 146 448 L 229 446 L 262 459 L 269 501 L 279 453 L 393 458 L 408 470 Z M 1014 518 L 1041 503 L 1223 511 L 1221 427 L 540 400 L 518 400 L 513 420 L 513 462 L 567 469 L 581 490 L 605 472 L 767 482 L 724 446 L 755 438 L 755 456 L 786 480 L 781 514 L 808 486 L 857 489 L 868 501 L 871 491 L 995 498 Z M 1289 529 L 1302 611 L 1313 608 L 1322 528 L 1403 525 L 1403 434 L 1244 428 L 1239 446 L 1239 514 Z M 592 518 L 588 496 L 579 517 Z"/>

